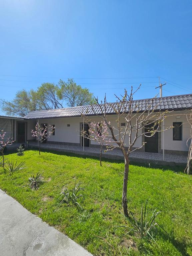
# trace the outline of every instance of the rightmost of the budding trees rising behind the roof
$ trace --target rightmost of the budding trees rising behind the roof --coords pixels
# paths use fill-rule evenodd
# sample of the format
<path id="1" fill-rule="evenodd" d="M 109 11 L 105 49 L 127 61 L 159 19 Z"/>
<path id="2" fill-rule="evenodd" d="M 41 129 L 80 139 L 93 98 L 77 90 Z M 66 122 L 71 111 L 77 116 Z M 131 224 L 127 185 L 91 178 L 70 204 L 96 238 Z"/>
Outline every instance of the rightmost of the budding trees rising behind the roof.
<path id="1" fill-rule="evenodd" d="M 82 88 L 80 85 L 77 85 L 73 78 L 68 79 L 67 82 L 60 80 L 58 86 L 60 87 L 58 90 L 59 98 L 65 100 L 69 107 L 96 103 L 93 93 L 89 92 L 87 88 Z"/>

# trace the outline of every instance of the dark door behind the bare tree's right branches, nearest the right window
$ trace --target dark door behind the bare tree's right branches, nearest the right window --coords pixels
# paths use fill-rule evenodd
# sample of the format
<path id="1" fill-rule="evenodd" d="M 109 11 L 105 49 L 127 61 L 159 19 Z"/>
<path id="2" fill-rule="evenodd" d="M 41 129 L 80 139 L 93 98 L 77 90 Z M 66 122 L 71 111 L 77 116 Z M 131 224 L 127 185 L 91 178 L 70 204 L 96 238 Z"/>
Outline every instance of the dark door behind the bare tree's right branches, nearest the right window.
<path id="1" fill-rule="evenodd" d="M 148 132 L 146 135 L 150 136 L 151 133 L 150 131 L 152 130 L 151 125 L 146 125 L 145 126 L 145 132 Z M 154 129 L 157 129 L 157 125 L 155 126 Z M 156 132 L 152 137 L 145 137 L 145 152 L 151 152 L 151 153 L 158 153 L 158 132 Z"/>

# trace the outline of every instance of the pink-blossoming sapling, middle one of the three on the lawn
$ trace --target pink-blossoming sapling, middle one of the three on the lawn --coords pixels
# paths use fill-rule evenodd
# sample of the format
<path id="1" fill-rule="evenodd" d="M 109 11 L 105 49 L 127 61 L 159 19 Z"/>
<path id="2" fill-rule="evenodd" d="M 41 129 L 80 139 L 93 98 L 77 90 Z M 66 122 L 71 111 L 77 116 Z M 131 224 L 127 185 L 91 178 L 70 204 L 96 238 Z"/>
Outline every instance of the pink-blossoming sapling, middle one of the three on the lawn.
<path id="1" fill-rule="evenodd" d="M 41 143 L 45 141 L 47 138 L 51 136 L 53 133 L 53 127 L 49 126 L 49 128 L 44 124 L 40 125 L 38 122 L 35 125 L 35 130 L 31 130 L 32 137 L 35 137 L 39 141 L 39 155 Z"/>

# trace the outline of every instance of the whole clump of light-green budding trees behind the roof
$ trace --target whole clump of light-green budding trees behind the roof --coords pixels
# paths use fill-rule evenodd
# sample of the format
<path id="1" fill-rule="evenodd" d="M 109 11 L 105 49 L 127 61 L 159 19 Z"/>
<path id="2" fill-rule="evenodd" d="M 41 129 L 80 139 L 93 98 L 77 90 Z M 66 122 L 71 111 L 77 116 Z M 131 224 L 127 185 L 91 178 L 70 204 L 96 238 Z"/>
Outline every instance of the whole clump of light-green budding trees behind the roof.
<path id="1" fill-rule="evenodd" d="M 24 117 L 30 111 L 63 108 L 94 104 L 93 94 L 87 88 L 77 85 L 73 79 L 62 80 L 58 85 L 42 83 L 37 90 L 21 90 L 12 101 L 1 99 L 1 109 L 6 115 Z"/>

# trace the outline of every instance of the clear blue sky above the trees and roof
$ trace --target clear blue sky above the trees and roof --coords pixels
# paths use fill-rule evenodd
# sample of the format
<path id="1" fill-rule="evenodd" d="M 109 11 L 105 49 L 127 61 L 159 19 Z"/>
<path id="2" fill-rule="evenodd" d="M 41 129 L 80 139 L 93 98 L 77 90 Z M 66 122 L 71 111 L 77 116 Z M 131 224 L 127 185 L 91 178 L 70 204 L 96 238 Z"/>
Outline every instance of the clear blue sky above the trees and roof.
<path id="1" fill-rule="evenodd" d="M 163 96 L 192 93 L 191 0 L 1 0 L 0 37 L 6 100 L 68 77 L 108 101 L 140 82 L 153 97 L 158 76 Z"/>

